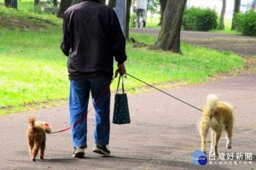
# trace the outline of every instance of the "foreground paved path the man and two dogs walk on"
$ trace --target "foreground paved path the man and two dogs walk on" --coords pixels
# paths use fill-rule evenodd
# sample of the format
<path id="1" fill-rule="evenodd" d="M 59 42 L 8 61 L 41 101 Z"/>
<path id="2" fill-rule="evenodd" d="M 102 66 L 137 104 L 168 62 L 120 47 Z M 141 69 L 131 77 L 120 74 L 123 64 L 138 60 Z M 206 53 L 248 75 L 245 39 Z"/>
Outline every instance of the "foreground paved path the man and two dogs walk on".
<path id="1" fill-rule="evenodd" d="M 129 95 L 131 124 L 111 125 L 109 146 L 113 156 L 108 157 L 98 156 L 91 151 L 94 129 L 92 112 L 88 117 L 86 158 L 72 158 L 73 149 L 68 131 L 48 135 L 45 160 L 36 162 L 32 162 L 28 156 L 27 118 L 37 116 L 40 120 L 48 121 L 54 130 L 59 130 L 68 126 L 67 105 L 1 116 L 0 169 L 255 169 L 256 72 L 167 91 L 198 107 L 204 104 L 210 93 L 218 94 L 219 99 L 236 105 L 233 149 L 225 149 L 223 136 L 219 150 L 224 153 L 253 153 L 252 165 L 194 165 L 190 156 L 195 150 L 200 150 L 196 124 L 201 112 L 153 91 Z M 210 144 L 207 144 L 207 150 L 209 148 Z"/>

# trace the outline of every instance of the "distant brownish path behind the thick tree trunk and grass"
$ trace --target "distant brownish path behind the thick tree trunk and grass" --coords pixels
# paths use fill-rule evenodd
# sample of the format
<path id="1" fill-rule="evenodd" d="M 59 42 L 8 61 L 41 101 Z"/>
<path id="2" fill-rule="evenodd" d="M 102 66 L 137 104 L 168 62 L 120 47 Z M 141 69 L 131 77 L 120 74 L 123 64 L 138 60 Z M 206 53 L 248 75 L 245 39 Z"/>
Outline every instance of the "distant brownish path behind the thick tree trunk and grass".
<path id="1" fill-rule="evenodd" d="M 131 28 L 131 32 L 159 34 L 159 29 Z M 231 51 L 241 56 L 256 56 L 256 37 L 234 36 L 230 34 L 206 31 L 181 31 L 181 42 L 187 42 L 204 48 Z"/>

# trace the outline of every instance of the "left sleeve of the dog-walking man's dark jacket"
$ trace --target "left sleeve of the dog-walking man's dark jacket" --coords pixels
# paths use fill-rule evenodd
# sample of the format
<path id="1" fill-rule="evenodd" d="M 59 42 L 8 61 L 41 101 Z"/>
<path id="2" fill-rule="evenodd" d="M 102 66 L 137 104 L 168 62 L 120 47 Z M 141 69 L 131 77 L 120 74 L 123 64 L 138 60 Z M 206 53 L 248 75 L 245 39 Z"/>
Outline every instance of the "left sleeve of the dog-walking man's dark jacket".
<path id="1" fill-rule="evenodd" d="M 64 14 L 63 17 L 63 37 L 61 41 L 61 50 L 63 54 L 68 56 L 70 50 L 70 35 L 69 35 L 69 17 L 67 14 Z"/>

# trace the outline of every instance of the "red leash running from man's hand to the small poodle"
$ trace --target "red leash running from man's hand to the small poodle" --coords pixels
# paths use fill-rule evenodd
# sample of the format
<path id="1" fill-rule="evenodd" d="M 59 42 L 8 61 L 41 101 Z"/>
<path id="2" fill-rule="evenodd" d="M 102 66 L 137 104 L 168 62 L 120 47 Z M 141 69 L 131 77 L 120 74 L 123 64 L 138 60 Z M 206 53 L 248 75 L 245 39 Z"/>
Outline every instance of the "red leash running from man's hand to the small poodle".
<path id="1" fill-rule="evenodd" d="M 117 76 L 119 71 L 116 71 L 115 72 L 115 76 L 113 77 L 113 79 Z M 100 99 L 102 99 L 103 95 L 107 93 L 108 89 L 110 88 L 110 85 L 111 83 L 113 82 L 113 79 L 108 83 L 108 86 L 103 90 L 102 94 L 98 97 L 98 99 L 96 99 L 96 102 L 95 102 L 95 105 L 97 105 L 97 103 L 99 102 Z M 90 110 L 93 108 L 93 106 L 90 107 Z M 83 116 L 81 116 L 81 118 L 79 119 L 79 121 L 75 122 L 72 126 L 70 127 L 67 127 L 67 128 L 64 128 L 62 130 L 59 130 L 59 131 L 55 131 L 55 132 L 52 132 L 52 133 L 62 133 L 62 132 L 65 132 L 69 129 L 71 129 L 72 127 L 75 127 L 77 126 L 80 122 L 83 122 L 84 121 L 84 118 L 87 117 L 88 113 L 90 112 L 90 110 L 86 111 L 84 113 Z"/>

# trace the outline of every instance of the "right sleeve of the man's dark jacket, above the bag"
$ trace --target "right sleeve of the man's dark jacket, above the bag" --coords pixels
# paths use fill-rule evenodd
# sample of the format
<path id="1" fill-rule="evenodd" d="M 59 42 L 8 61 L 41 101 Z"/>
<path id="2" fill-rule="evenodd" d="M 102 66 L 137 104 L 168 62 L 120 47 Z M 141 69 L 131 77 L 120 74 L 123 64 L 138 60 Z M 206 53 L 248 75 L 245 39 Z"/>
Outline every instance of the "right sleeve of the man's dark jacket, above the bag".
<path id="1" fill-rule="evenodd" d="M 109 19 L 113 55 L 119 64 L 123 64 L 127 59 L 125 54 L 125 36 L 119 24 L 118 17 L 112 8 L 109 10 Z"/>

